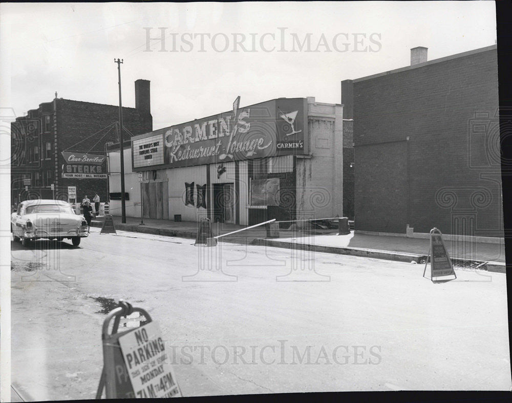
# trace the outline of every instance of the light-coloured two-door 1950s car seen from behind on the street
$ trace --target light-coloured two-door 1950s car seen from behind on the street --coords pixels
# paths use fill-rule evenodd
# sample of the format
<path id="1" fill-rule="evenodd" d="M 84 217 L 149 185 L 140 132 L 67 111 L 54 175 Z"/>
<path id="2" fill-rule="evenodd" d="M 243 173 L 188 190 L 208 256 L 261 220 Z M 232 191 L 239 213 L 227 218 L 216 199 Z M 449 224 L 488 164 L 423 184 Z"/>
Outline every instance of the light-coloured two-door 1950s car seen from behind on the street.
<path id="1" fill-rule="evenodd" d="M 89 227 L 68 202 L 38 199 L 18 204 L 11 214 L 11 232 L 14 241 L 21 240 L 23 246 L 37 239 L 71 239 L 78 246 L 89 235 Z"/>

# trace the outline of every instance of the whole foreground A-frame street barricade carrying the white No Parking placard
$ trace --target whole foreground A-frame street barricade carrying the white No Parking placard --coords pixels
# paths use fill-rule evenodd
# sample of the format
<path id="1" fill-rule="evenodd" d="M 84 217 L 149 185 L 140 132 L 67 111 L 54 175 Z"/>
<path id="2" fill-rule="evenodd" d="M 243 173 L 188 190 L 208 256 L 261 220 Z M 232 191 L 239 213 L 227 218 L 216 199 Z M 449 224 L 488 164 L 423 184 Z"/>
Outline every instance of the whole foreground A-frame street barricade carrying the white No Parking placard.
<path id="1" fill-rule="evenodd" d="M 121 316 L 133 312 L 140 312 L 146 318 L 146 324 L 118 332 Z M 107 399 L 181 397 L 173 367 L 164 364 L 167 355 L 158 325 L 144 309 L 119 301 L 119 306 L 104 320 L 101 336 L 103 370 L 96 399 L 101 398 L 103 388 Z"/>

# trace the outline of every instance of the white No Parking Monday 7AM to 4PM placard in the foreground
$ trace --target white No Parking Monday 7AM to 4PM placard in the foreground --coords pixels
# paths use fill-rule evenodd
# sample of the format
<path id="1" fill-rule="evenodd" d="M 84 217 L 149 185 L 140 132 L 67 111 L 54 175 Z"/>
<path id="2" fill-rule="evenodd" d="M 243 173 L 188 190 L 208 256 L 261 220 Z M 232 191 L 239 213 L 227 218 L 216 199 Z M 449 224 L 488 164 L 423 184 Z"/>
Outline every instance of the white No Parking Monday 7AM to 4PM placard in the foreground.
<path id="1" fill-rule="evenodd" d="M 123 334 L 119 345 L 135 397 L 181 397 L 173 367 L 165 364 L 165 344 L 155 322 Z"/>

